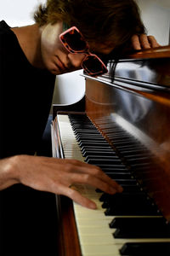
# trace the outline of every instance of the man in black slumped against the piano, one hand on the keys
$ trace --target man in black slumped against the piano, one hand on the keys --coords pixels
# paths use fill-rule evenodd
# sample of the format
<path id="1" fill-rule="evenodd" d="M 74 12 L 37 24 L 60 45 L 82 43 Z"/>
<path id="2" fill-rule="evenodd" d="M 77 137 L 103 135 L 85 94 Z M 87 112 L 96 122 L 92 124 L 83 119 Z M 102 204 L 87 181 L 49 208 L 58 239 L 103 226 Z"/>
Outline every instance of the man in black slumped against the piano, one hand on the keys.
<path id="1" fill-rule="evenodd" d="M 55 75 L 82 67 L 98 75 L 106 72 L 113 52 L 130 45 L 133 49 L 159 46 L 144 34 L 133 0 L 48 0 L 37 9 L 35 20 L 34 25 L 14 28 L 0 23 L 0 242 L 7 253 L 1 255 L 54 251 L 54 198 L 37 190 L 66 195 L 92 209 L 95 203 L 71 189 L 71 184 L 122 192 L 97 166 L 35 155 L 48 120 Z M 74 45 L 65 45 L 65 32 L 78 35 L 78 49 L 74 48 L 77 37 L 71 39 Z M 97 65 L 88 70 L 89 58 L 102 70 L 96 70 Z"/>

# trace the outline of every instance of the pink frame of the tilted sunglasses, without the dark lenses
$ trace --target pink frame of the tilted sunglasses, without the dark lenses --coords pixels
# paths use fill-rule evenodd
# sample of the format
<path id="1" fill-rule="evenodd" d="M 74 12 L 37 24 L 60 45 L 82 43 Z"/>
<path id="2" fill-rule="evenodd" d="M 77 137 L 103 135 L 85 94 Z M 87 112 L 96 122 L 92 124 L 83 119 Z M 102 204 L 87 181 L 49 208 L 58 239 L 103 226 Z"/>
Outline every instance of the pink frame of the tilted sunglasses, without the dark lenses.
<path id="1" fill-rule="evenodd" d="M 75 49 L 71 49 L 71 46 L 66 42 L 65 40 L 65 34 L 67 33 L 73 33 L 74 30 L 76 30 L 80 35 L 81 35 L 81 39 L 83 42 L 86 43 L 86 47 L 85 49 L 81 49 L 81 50 L 75 50 Z M 88 45 L 88 42 L 83 38 L 82 36 L 82 33 L 77 29 L 77 26 L 71 26 L 71 28 L 67 29 L 65 32 L 62 32 L 60 35 L 59 35 L 59 40 L 60 42 L 65 46 L 65 49 L 67 49 L 71 54 L 78 54 L 78 53 L 83 53 L 85 54 L 85 58 L 82 60 L 82 63 L 81 63 L 81 66 L 82 68 L 85 70 L 86 73 L 88 73 L 88 75 L 91 75 L 91 76 L 97 76 L 97 75 L 101 75 L 101 74 L 104 74 L 104 73 L 107 73 L 108 72 L 108 69 L 107 67 L 105 66 L 105 63 L 103 61 L 101 61 L 101 59 L 98 57 L 98 55 L 94 55 L 92 54 L 88 49 L 89 49 L 89 45 Z M 101 64 L 101 71 L 97 72 L 97 73 L 94 73 L 94 72 L 91 72 L 88 67 L 86 67 L 86 61 L 88 61 L 88 59 L 90 57 L 94 57 L 94 59 L 98 60 L 99 63 Z"/>

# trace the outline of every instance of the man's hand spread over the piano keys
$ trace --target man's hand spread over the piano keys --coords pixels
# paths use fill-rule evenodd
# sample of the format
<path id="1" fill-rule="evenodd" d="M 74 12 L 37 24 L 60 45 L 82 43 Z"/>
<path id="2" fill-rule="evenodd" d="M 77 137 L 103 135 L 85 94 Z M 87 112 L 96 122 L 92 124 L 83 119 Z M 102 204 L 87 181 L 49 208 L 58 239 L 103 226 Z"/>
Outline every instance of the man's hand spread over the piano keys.
<path id="1" fill-rule="evenodd" d="M 9 166 L 12 170 L 10 180 L 13 183 L 23 183 L 32 189 L 66 195 L 83 207 L 95 209 L 96 205 L 94 201 L 71 189 L 71 184 L 89 184 L 109 194 L 122 192 L 122 187 L 99 167 L 78 160 L 18 155 L 10 158 Z"/>

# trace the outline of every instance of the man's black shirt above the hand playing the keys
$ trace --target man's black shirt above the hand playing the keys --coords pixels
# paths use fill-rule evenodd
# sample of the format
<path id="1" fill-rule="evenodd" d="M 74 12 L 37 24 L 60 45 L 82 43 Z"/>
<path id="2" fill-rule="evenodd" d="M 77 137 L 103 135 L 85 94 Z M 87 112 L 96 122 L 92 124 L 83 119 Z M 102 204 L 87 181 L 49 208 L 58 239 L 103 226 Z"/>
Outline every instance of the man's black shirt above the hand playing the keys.
<path id="1" fill-rule="evenodd" d="M 0 22 L 0 158 L 34 154 L 42 138 L 55 76 L 32 67 L 18 39 Z"/>

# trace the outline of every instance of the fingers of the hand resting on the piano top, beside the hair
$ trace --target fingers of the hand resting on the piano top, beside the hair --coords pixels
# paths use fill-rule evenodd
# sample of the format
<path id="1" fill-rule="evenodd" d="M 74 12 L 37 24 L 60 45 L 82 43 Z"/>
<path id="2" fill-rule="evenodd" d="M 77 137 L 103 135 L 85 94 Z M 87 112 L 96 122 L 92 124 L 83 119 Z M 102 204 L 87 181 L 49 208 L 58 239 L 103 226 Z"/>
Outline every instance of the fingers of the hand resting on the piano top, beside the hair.
<path id="1" fill-rule="evenodd" d="M 145 34 L 133 35 L 131 38 L 133 49 L 150 49 L 161 46 L 157 43 L 156 38 Z"/>

